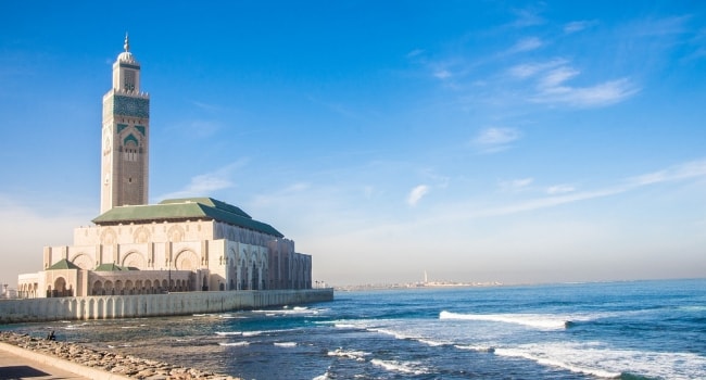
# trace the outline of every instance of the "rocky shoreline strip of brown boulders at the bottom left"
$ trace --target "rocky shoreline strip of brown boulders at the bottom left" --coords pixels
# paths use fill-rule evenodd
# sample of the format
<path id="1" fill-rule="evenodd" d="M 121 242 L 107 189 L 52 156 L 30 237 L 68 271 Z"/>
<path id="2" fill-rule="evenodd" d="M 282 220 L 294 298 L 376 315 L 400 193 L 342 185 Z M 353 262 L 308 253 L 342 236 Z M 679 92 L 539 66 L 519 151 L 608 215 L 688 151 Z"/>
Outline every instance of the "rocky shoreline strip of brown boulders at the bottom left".
<path id="1" fill-rule="evenodd" d="M 0 331 L 0 350 L 90 379 L 239 380 L 232 376 L 198 368 L 142 359 L 131 355 L 89 349 L 78 343 L 38 339 L 10 331 Z"/>

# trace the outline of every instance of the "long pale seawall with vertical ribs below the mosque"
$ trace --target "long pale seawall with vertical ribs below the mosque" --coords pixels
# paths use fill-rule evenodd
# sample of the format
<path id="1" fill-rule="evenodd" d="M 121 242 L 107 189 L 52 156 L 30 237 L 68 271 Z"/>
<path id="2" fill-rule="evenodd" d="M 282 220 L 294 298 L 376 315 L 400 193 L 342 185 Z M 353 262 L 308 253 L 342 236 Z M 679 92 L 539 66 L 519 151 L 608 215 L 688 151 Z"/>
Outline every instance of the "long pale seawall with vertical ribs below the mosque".
<path id="1" fill-rule="evenodd" d="M 333 301 L 333 289 L 237 290 L 0 301 L 0 324 L 224 313 Z"/>

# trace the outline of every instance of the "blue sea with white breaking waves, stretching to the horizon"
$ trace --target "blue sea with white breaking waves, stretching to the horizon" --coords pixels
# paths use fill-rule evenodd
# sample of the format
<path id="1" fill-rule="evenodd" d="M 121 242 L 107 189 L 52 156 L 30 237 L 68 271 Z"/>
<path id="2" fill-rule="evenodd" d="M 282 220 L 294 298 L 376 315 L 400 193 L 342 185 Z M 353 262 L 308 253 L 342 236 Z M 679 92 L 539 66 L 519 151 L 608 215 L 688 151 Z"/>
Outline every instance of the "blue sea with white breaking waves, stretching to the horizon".
<path id="1" fill-rule="evenodd" d="M 341 291 L 0 329 L 243 379 L 706 379 L 706 279 Z"/>

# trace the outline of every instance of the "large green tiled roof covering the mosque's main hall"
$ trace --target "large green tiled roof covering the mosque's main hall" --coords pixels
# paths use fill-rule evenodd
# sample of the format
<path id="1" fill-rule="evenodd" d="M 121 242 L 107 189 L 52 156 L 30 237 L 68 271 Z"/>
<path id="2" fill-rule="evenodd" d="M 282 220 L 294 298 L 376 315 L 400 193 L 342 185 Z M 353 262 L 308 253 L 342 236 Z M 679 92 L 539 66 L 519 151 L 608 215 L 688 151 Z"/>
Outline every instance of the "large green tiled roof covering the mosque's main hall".
<path id="1" fill-rule="evenodd" d="M 177 220 L 217 220 L 229 225 L 283 238 L 273 226 L 253 219 L 231 204 L 212 198 L 185 198 L 165 200 L 159 204 L 118 206 L 99 215 L 93 223 L 99 226 Z"/>

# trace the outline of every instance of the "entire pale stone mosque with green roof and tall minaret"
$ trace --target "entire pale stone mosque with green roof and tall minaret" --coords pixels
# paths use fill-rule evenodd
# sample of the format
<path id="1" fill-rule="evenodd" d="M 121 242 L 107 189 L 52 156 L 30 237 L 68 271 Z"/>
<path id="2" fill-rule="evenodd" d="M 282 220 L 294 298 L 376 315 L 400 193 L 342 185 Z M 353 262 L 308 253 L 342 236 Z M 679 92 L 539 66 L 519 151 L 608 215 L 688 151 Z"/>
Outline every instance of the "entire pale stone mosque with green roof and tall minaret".
<path id="1" fill-rule="evenodd" d="M 125 37 L 103 96 L 101 208 L 74 244 L 46 246 L 20 297 L 311 289 L 312 256 L 241 208 L 211 198 L 148 204 L 150 96 Z"/>

